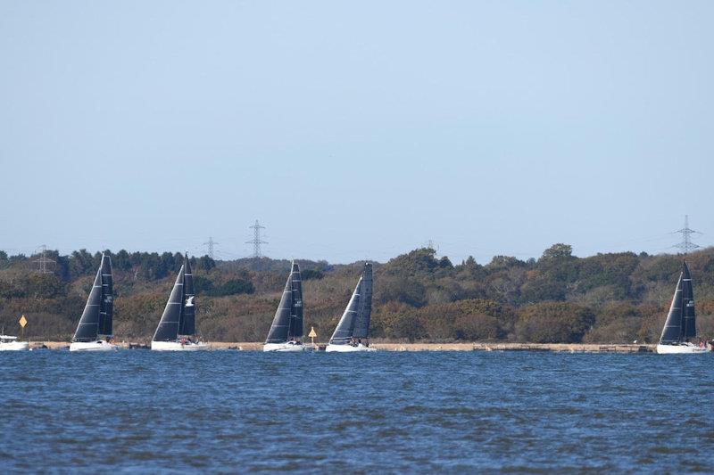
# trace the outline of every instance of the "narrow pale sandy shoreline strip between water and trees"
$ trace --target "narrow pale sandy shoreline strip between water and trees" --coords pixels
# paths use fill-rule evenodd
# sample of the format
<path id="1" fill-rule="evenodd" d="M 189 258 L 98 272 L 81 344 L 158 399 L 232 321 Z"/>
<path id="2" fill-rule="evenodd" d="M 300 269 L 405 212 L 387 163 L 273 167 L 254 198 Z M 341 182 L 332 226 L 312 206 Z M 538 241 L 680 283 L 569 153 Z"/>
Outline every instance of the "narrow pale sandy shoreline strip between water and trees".
<path id="1" fill-rule="evenodd" d="M 145 349 L 145 343 L 119 342 L 120 348 Z M 213 341 L 206 343 L 210 350 L 262 351 L 262 342 Z M 326 343 L 315 346 L 324 350 Z M 656 344 L 616 343 L 372 343 L 371 348 L 381 351 L 551 351 L 556 353 L 654 353 Z M 52 350 L 70 348 L 67 341 L 30 341 L 30 349 Z"/>

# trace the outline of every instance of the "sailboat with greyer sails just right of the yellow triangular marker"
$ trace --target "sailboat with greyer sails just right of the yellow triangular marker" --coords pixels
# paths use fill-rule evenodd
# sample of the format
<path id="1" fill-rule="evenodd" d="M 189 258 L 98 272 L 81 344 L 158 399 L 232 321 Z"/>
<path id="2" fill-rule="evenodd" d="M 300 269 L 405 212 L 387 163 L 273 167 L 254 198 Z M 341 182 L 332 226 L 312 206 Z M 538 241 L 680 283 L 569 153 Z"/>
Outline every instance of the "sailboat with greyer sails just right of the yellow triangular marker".
<path id="1" fill-rule="evenodd" d="M 369 316 L 372 314 L 372 265 L 364 264 L 364 269 L 345 313 L 337 323 L 328 352 L 375 351 L 369 348 Z M 362 341 L 364 339 L 364 341 Z"/>

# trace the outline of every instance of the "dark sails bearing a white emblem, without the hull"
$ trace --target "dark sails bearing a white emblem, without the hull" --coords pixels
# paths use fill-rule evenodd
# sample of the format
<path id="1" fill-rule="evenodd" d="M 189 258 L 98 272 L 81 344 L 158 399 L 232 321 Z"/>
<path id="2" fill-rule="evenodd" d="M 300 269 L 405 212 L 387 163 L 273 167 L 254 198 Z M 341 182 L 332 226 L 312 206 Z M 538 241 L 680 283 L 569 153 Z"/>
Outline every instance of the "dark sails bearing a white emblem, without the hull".
<path id="1" fill-rule="evenodd" d="M 175 341 L 179 335 L 195 335 L 194 299 L 194 277 L 186 257 L 163 309 L 154 341 Z"/>

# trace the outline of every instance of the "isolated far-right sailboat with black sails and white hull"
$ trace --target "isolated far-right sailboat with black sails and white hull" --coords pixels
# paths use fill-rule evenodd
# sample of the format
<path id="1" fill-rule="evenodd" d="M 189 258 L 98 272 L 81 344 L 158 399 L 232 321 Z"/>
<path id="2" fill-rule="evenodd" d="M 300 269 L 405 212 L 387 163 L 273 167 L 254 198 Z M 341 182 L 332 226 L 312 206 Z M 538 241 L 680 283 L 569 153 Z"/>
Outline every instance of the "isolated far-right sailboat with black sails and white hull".
<path id="1" fill-rule="evenodd" d="M 689 266 L 682 261 L 682 273 L 679 274 L 677 290 L 669 307 L 667 321 L 662 329 L 660 342 L 657 344 L 657 353 L 706 353 L 709 351 L 706 344 L 694 345 L 690 340 L 696 339 L 697 326 L 694 315 L 694 292 L 692 289 L 692 275 Z"/>

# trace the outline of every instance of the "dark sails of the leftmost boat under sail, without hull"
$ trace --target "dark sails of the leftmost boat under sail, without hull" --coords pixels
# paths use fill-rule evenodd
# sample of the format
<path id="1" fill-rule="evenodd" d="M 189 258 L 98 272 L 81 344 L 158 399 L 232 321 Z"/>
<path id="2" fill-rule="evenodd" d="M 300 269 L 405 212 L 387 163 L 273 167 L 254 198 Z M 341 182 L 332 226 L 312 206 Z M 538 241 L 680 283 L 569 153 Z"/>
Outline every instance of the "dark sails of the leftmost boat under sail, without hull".
<path id="1" fill-rule="evenodd" d="M 112 259 L 102 254 L 102 262 L 96 271 L 87 305 L 79 318 L 77 332 L 74 332 L 72 341 L 94 341 L 99 335 L 112 335 L 114 315 L 112 291 Z"/>

